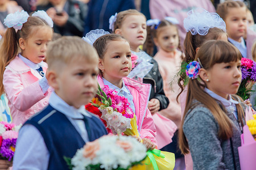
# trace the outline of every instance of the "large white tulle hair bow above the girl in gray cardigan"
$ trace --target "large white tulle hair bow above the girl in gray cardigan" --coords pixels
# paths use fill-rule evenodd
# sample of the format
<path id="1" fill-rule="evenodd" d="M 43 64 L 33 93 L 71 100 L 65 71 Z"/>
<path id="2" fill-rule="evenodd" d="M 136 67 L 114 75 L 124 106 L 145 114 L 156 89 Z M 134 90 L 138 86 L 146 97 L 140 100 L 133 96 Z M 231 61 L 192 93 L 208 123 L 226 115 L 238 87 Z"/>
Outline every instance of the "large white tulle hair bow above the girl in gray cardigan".
<path id="1" fill-rule="evenodd" d="M 207 35 L 210 28 L 220 28 L 226 32 L 226 24 L 217 13 L 208 12 L 203 8 L 196 8 L 187 12 L 188 17 L 184 19 L 184 28 L 192 35 Z"/>

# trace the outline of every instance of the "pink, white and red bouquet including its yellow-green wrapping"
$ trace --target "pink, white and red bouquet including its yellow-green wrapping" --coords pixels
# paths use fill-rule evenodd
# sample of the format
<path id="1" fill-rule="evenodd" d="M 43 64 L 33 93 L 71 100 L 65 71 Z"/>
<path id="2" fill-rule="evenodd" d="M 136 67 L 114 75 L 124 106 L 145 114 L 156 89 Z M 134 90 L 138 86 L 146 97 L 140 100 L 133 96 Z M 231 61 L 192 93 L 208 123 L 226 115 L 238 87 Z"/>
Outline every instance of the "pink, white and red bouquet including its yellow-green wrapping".
<path id="1" fill-rule="evenodd" d="M 125 97 L 118 96 L 117 91 L 104 86 L 102 89 L 98 87 L 96 97 L 91 103 L 85 105 L 85 108 L 87 111 L 97 114 L 113 134 L 123 133 L 139 138 L 136 116 L 129 105 L 130 103 Z M 143 141 L 141 140 L 141 142 Z M 147 169 L 174 168 L 175 156 L 173 153 L 154 149 L 148 150 L 146 154 Z"/>

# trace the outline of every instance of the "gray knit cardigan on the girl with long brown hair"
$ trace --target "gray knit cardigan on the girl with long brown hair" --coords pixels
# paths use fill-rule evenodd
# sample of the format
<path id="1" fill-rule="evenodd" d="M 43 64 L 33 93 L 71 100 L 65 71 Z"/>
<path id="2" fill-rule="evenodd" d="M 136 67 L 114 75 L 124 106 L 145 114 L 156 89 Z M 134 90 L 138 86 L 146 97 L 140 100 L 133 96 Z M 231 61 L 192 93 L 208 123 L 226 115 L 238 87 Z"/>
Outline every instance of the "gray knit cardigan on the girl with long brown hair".
<path id="1" fill-rule="evenodd" d="M 243 110 L 247 107 L 241 103 Z M 196 102 L 196 101 L 195 101 Z M 197 101 L 198 102 L 198 101 Z M 233 148 L 237 170 L 240 170 L 238 147 L 241 146 L 241 129 L 234 115 L 226 113 L 233 122 Z M 243 120 L 245 125 L 245 121 Z M 183 131 L 188 141 L 193 159 L 193 170 L 197 169 L 234 169 L 230 139 L 218 138 L 218 124 L 205 105 L 199 103 L 188 111 L 183 124 Z"/>

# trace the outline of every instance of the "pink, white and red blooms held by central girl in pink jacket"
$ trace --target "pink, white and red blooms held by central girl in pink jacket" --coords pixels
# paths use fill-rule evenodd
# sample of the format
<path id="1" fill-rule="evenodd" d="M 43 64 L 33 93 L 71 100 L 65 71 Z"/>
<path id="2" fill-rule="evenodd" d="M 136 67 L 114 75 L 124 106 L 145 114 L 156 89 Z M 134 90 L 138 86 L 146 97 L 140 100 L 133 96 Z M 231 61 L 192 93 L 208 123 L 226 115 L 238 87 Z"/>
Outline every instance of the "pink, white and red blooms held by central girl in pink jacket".
<path id="1" fill-rule="evenodd" d="M 102 89 L 98 86 L 96 97 L 85 105 L 85 109 L 97 114 L 113 134 L 121 134 L 131 128 L 130 121 L 134 113 L 129 101 L 123 96 L 118 96 L 117 91 L 109 86 Z"/>

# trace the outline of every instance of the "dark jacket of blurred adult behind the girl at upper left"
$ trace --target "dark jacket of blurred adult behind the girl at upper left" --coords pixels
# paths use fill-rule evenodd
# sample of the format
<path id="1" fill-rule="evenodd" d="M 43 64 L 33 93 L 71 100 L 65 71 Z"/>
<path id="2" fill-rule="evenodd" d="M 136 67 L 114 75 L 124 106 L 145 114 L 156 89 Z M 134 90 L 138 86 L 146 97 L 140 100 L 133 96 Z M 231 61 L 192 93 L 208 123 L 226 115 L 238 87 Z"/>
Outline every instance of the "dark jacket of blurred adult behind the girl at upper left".
<path id="1" fill-rule="evenodd" d="M 37 10 L 47 11 L 48 8 L 53 7 L 51 3 L 46 6 L 38 6 Z M 53 25 L 53 30 L 63 36 L 80 36 L 84 33 L 84 20 L 88 12 L 88 6 L 85 3 L 75 0 L 68 0 L 64 6 L 69 18 L 63 27 Z"/>

